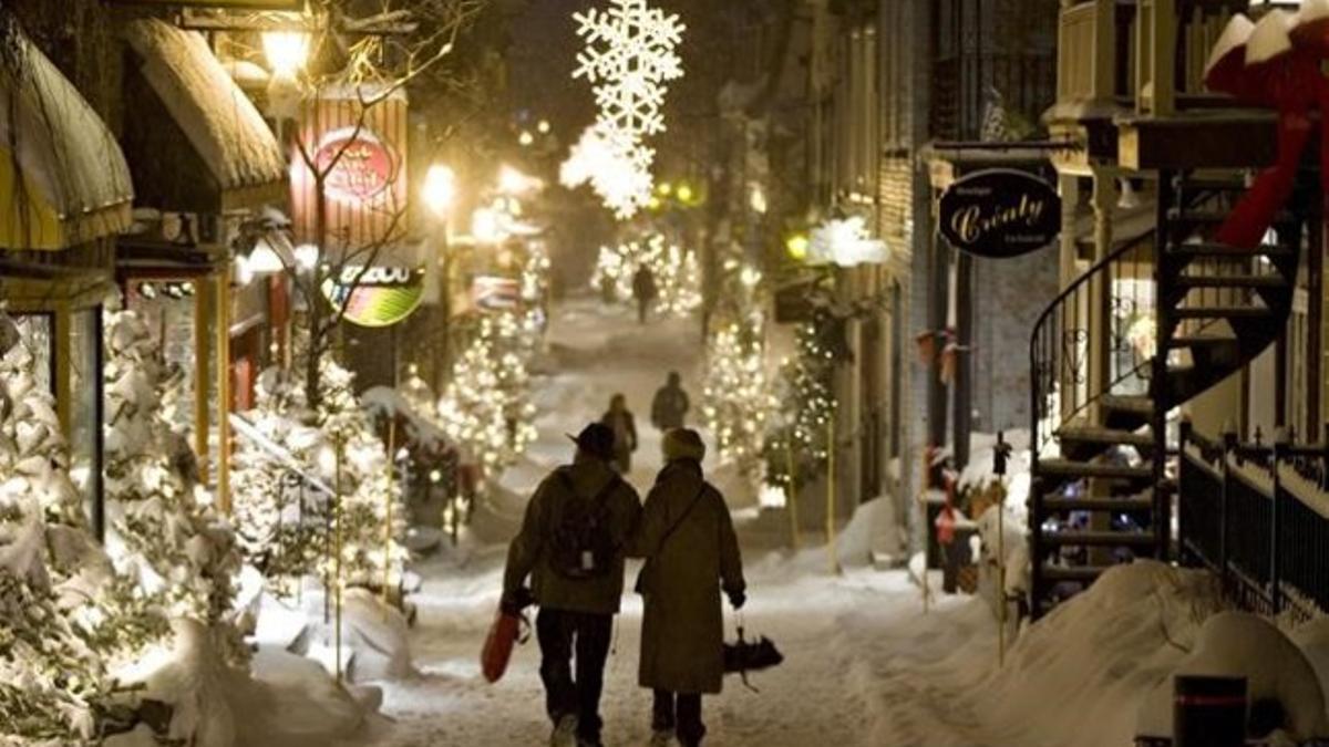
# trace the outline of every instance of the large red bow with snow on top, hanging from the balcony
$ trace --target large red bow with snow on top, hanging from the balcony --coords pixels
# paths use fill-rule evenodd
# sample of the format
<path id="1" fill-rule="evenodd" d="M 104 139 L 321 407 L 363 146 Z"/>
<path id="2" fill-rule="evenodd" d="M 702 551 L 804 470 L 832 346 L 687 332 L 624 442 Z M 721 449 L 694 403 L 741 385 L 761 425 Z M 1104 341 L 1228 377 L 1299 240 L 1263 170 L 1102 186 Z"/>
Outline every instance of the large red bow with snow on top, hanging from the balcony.
<path id="1" fill-rule="evenodd" d="M 1296 183 L 1309 142 L 1310 112 L 1329 113 L 1329 0 L 1308 0 L 1297 13 L 1271 11 L 1259 24 L 1236 15 L 1219 39 L 1204 82 L 1237 101 L 1278 110 L 1278 154 L 1237 202 L 1217 241 L 1256 249 Z M 1329 128 L 1320 128 L 1321 186 L 1329 186 Z"/>

